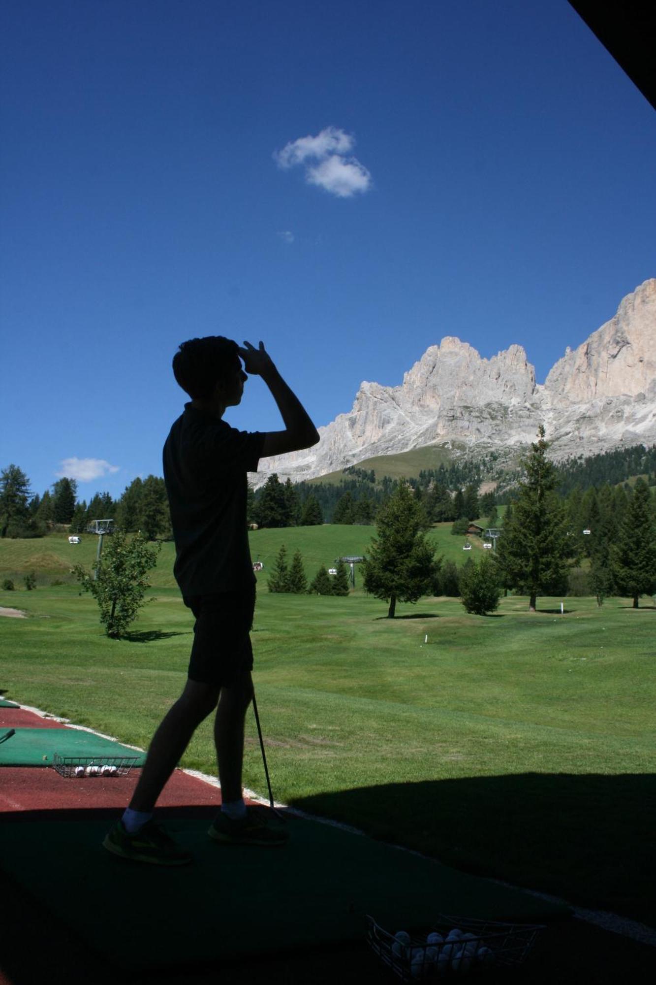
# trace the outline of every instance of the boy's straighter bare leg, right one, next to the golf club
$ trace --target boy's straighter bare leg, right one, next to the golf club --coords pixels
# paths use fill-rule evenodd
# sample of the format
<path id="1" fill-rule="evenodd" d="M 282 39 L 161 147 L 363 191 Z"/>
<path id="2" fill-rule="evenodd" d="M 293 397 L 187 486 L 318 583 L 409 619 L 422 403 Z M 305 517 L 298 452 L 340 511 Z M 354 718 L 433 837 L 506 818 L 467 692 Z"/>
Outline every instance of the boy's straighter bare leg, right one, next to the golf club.
<path id="1" fill-rule="evenodd" d="M 214 740 L 219 762 L 221 798 L 224 803 L 230 804 L 242 796 L 243 729 L 252 696 L 250 671 L 239 677 L 230 687 L 221 689 L 214 723 Z"/>

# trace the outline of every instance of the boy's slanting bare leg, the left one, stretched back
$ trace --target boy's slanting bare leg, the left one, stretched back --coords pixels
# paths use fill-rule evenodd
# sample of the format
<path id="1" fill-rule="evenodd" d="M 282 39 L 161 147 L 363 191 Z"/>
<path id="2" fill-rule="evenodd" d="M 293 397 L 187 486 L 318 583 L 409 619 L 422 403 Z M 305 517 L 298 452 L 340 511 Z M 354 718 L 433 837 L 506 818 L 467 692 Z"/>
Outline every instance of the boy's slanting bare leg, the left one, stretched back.
<path id="1" fill-rule="evenodd" d="M 216 708 L 218 698 L 219 688 L 216 685 L 187 681 L 182 694 L 166 712 L 162 724 L 153 736 L 144 768 L 130 801 L 133 811 L 153 810 L 166 780 L 200 723 Z"/>

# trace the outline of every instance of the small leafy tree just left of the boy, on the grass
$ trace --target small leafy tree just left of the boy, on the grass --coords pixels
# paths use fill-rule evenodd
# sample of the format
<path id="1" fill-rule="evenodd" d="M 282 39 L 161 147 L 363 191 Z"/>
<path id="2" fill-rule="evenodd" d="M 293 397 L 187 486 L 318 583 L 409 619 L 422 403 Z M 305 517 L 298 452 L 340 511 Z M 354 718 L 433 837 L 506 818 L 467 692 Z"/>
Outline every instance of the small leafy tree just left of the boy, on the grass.
<path id="1" fill-rule="evenodd" d="M 85 592 L 91 592 L 100 610 L 107 636 L 119 639 L 134 622 L 144 604 L 150 582 L 146 573 L 157 563 L 161 544 L 149 544 L 142 534 L 128 537 L 115 533 L 95 566 L 97 577 L 81 564 L 73 573 Z"/>

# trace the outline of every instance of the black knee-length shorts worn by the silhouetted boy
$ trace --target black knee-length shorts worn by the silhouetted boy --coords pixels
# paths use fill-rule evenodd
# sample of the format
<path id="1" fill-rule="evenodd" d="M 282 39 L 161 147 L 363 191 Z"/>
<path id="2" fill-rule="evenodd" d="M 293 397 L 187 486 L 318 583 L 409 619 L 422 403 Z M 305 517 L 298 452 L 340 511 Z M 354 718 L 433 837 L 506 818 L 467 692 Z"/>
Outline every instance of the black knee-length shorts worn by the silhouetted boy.
<path id="1" fill-rule="evenodd" d="M 185 595 L 182 601 L 196 617 L 190 681 L 223 687 L 253 669 L 255 585 L 216 595 Z"/>

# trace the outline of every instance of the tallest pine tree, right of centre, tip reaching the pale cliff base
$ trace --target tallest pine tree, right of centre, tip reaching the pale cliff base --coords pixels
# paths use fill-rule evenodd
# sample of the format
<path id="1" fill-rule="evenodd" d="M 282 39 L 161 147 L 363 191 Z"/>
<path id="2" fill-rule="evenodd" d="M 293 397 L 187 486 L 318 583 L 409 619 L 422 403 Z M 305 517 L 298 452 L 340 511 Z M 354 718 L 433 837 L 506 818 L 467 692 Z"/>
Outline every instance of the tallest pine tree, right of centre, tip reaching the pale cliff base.
<path id="1" fill-rule="evenodd" d="M 567 590 L 567 572 L 576 557 L 568 522 L 555 492 L 557 474 L 547 459 L 545 428 L 523 460 L 524 478 L 514 499 L 510 518 L 503 519 L 503 534 L 495 552 L 499 577 L 509 588 L 529 596 L 535 612 L 539 594 Z"/>

